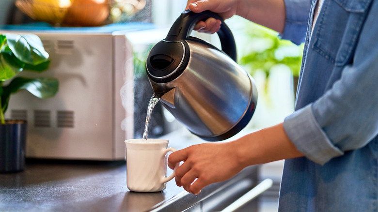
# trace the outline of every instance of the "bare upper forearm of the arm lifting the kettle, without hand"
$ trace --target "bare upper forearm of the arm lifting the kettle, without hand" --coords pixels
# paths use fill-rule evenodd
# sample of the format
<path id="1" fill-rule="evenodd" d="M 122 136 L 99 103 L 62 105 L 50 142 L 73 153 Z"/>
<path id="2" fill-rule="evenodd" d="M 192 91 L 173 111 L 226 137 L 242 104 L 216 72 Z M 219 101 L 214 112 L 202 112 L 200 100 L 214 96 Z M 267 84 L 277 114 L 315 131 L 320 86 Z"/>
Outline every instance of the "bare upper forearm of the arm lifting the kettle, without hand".
<path id="1" fill-rule="evenodd" d="M 284 0 L 238 0 L 236 15 L 277 32 L 284 31 Z"/>

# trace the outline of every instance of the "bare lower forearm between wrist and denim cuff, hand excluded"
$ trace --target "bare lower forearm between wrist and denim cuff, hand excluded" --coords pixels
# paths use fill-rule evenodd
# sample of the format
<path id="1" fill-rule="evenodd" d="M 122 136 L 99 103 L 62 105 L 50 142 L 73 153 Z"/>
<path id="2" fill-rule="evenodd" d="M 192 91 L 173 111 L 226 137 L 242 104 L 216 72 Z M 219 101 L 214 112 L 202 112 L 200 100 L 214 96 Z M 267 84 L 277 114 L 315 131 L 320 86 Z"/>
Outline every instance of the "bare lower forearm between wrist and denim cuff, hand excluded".
<path id="1" fill-rule="evenodd" d="M 248 134 L 231 143 L 242 167 L 303 156 L 286 135 L 282 123 Z"/>

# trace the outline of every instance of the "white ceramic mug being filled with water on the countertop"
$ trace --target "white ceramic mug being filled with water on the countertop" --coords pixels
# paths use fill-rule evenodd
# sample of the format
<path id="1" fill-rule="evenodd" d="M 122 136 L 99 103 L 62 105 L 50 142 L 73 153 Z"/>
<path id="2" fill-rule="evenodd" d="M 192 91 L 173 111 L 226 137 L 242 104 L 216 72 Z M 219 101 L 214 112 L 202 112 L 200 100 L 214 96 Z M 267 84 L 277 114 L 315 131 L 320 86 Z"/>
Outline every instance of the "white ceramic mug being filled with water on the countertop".
<path id="1" fill-rule="evenodd" d="M 126 140 L 126 182 L 130 191 L 157 192 L 166 187 L 166 182 L 174 178 L 167 175 L 169 151 L 176 151 L 168 147 L 168 140 L 143 139 Z M 178 167 L 178 164 L 176 165 Z M 175 168 L 176 168 L 175 167 Z M 175 170 L 174 168 L 174 170 Z"/>

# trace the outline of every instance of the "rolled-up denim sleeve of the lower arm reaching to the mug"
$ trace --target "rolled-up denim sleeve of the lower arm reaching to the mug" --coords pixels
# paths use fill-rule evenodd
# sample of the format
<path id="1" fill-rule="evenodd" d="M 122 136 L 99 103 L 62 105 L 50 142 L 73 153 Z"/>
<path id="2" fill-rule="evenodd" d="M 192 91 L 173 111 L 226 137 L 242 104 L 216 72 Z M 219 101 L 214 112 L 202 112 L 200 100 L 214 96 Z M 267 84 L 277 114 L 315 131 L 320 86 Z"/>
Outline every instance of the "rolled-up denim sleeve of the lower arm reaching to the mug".
<path id="1" fill-rule="evenodd" d="M 368 15 L 353 63 L 314 103 L 284 120 L 284 129 L 307 158 L 324 164 L 367 145 L 378 135 L 377 8 Z M 316 70 L 313 70 L 316 71 Z"/>

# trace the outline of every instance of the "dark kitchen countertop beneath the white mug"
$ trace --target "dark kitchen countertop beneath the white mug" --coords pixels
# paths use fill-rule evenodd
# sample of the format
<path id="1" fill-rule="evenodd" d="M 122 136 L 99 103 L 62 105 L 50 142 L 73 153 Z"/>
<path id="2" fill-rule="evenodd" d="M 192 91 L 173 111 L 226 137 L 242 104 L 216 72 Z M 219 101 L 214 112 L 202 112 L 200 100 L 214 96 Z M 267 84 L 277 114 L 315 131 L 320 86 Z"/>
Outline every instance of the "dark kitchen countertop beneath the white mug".
<path id="1" fill-rule="evenodd" d="M 162 192 L 137 193 L 127 189 L 126 161 L 28 159 L 25 171 L 0 174 L 0 211 L 220 210 L 257 184 L 257 172 L 258 166 L 247 167 L 228 181 L 206 186 L 197 196 L 177 187 L 174 180 Z"/>

